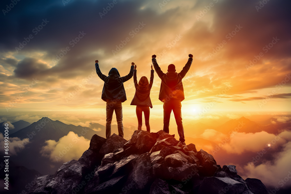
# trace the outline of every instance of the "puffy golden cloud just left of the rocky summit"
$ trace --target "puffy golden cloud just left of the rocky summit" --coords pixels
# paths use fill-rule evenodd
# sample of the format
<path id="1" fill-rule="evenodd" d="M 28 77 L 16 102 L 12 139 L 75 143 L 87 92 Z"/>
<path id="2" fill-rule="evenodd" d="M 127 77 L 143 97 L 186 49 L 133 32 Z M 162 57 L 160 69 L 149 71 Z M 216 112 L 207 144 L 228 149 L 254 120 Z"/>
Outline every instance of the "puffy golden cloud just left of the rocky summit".
<path id="1" fill-rule="evenodd" d="M 49 158 L 53 162 L 67 162 L 72 159 L 79 159 L 83 152 L 88 149 L 90 140 L 79 137 L 70 131 L 68 135 L 63 136 L 58 141 L 47 140 L 47 145 L 41 148 L 42 156 Z"/>

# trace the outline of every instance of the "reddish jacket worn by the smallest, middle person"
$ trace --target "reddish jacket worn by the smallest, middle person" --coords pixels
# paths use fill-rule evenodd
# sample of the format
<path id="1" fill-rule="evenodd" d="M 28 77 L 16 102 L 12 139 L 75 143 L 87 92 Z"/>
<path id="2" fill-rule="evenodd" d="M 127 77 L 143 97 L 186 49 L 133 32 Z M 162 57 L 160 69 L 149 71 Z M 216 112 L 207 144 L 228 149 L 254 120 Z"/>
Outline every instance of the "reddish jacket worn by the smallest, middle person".
<path id="1" fill-rule="evenodd" d="M 149 106 L 152 108 L 152 102 L 150 100 L 150 89 L 154 81 L 154 70 L 150 70 L 150 83 L 148 86 L 139 86 L 136 79 L 136 70 L 133 73 L 133 81 L 135 86 L 135 94 L 130 105 Z"/>

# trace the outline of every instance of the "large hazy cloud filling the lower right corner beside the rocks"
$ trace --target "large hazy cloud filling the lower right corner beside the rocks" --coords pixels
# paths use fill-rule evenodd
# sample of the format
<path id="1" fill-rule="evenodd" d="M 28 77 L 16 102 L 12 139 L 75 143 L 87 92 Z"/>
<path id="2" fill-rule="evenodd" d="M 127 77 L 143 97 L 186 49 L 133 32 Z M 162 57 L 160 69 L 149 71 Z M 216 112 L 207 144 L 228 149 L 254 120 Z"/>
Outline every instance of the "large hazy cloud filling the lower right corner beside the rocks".
<path id="1" fill-rule="evenodd" d="M 266 161 L 258 166 L 249 163 L 245 166 L 244 177 L 260 179 L 266 186 L 290 187 L 290 178 L 285 177 L 291 175 L 291 142 L 283 146 L 283 152 L 280 152 L 274 161 Z"/>

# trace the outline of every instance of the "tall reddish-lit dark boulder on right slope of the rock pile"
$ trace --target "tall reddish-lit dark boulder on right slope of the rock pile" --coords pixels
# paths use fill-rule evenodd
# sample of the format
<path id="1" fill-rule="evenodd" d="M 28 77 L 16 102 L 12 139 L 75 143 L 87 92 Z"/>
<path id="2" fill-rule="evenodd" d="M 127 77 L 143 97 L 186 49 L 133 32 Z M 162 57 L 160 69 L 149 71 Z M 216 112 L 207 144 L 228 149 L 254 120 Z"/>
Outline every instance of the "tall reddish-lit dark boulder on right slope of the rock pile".
<path id="1" fill-rule="evenodd" d="M 200 175 L 204 177 L 212 177 L 218 169 L 213 156 L 205 152 L 203 149 L 200 149 L 200 151 L 197 152 L 196 157 L 199 159 L 200 165 L 202 166 Z"/>

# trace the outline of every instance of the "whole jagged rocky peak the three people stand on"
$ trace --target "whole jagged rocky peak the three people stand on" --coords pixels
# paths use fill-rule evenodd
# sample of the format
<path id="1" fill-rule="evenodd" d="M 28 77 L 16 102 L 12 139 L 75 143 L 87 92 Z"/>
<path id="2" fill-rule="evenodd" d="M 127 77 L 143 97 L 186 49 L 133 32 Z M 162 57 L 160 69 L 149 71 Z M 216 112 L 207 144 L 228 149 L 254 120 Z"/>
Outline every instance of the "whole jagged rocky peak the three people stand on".
<path id="1" fill-rule="evenodd" d="M 268 193 L 260 180 L 244 180 L 235 168 L 221 168 L 211 154 L 162 130 L 137 130 L 128 141 L 94 135 L 78 161 L 39 177 L 30 193 Z"/>

